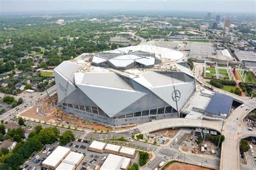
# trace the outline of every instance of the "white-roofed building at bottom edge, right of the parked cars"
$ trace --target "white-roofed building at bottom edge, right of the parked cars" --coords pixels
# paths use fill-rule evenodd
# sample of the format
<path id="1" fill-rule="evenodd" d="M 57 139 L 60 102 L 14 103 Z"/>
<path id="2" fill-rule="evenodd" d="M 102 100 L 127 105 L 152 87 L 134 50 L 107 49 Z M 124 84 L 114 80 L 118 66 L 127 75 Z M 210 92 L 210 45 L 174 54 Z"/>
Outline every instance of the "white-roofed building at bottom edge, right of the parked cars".
<path id="1" fill-rule="evenodd" d="M 121 157 L 119 155 L 109 154 L 100 170 L 120 170 L 127 169 L 131 164 L 130 158 Z"/>

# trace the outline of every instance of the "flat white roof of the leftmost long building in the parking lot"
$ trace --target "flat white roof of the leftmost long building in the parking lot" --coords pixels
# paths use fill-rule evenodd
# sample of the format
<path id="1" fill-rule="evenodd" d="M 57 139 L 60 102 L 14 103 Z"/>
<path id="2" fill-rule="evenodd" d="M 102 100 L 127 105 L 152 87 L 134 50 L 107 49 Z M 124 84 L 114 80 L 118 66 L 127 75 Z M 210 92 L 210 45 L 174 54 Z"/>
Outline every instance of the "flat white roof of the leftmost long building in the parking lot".
<path id="1" fill-rule="evenodd" d="M 43 164 L 55 167 L 63 157 L 70 152 L 70 148 L 58 146 L 50 155 L 47 157 Z"/>

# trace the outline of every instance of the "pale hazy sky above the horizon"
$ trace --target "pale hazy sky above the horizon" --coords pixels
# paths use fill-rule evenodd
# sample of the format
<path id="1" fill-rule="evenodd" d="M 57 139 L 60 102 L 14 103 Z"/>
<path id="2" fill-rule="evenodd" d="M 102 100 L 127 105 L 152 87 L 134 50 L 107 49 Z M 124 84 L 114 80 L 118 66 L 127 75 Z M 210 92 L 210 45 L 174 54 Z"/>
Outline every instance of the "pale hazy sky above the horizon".
<path id="1" fill-rule="evenodd" d="M 2 12 L 207 11 L 255 13 L 256 0 L 0 0 Z"/>

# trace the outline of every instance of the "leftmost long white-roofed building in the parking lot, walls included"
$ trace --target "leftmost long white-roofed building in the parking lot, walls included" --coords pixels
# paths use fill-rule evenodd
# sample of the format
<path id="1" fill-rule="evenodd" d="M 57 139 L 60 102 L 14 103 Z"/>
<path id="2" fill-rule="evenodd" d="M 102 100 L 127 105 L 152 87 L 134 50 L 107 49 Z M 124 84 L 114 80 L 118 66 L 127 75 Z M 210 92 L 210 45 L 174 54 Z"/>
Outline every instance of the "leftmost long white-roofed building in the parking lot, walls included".
<path id="1" fill-rule="evenodd" d="M 56 169 L 60 162 L 71 152 L 70 148 L 58 146 L 50 155 L 42 162 L 42 167 L 48 169 Z"/>

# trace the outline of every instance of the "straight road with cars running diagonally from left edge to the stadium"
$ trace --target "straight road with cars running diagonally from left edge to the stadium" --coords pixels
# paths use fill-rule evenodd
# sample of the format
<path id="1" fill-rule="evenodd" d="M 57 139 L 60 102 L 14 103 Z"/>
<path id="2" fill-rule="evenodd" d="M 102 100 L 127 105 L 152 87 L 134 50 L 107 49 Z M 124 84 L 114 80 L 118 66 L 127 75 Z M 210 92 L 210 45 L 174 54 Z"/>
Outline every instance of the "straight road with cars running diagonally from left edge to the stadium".
<path id="1" fill-rule="evenodd" d="M 52 94 L 56 93 L 56 86 L 51 86 L 48 90 L 49 95 L 51 96 Z M 31 100 L 26 100 L 24 101 L 23 104 L 18 105 L 15 108 L 12 108 L 11 110 L 3 113 L 2 115 L 0 115 L 0 120 L 9 120 L 11 117 L 13 117 L 14 115 L 18 114 L 19 112 L 22 112 L 26 109 L 27 106 L 30 105 L 34 105 L 37 103 L 37 101 L 39 99 L 43 99 L 45 97 L 47 97 L 47 93 L 46 91 L 43 91 L 42 93 L 39 93 L 37 96 L 33 97 Z"/>

